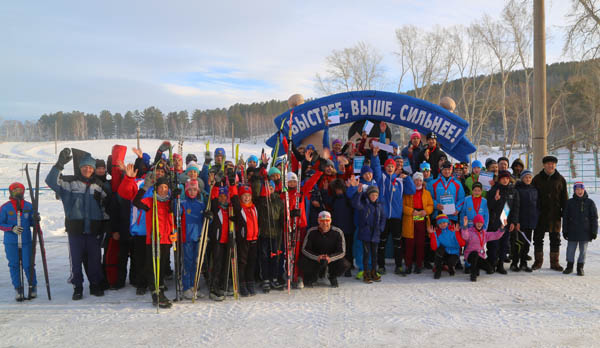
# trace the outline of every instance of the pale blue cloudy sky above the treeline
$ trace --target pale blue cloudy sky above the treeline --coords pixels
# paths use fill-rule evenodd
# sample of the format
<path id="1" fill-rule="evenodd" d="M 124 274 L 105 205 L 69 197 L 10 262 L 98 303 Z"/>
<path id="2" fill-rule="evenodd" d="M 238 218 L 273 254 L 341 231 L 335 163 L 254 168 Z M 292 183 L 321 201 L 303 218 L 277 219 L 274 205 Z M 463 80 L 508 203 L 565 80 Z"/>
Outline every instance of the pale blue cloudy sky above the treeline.
<path id="1" fill-rule="evenodd" d="M 546 1 L 549 63 L 561 56 L 568 0 Z M 165 112 L 319 96 L 325 57 L 365 41 L 399 77 L 395 29 L 498 16 L 500 0 L 5 1 L 0 119 L 43 113 Z"/>

